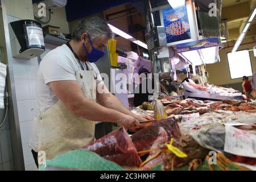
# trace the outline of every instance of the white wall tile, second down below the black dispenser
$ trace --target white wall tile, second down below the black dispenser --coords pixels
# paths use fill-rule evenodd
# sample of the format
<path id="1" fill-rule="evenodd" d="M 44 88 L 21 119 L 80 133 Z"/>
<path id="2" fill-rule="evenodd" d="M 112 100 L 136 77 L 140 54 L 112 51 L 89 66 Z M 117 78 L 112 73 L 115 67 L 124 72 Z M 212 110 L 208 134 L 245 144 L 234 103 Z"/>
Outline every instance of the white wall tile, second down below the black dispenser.
<path id="1" fill-rule="evenodd" d="M 14 82 L 17 101 L 30 99 L 30 88 L 28 86 L 28 79 L 16 78 Z"/>

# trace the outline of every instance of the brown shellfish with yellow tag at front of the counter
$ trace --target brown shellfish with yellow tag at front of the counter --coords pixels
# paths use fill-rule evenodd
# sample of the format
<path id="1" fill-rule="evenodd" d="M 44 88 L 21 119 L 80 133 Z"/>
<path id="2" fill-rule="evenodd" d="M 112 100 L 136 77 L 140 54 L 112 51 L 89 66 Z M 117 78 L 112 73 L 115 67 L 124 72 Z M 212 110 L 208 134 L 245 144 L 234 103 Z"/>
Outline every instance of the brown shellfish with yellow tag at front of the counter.
<path id="1" fill-rule="evenodd" d="M 148 164 L 150 167 L 162 164 L 166 171 L 185 165 L 189 165 L 189 169 L 194 170 L 203 162 L 208 149 L 201 147 L 190 135 L 183 135 L 179 139 L 172 138 L 170 143 L 161 144 L 158 148 L 138 152 L 138 154 L 147 153 L 150 153 L 150 156 L 142 162 L 140 166 L 142 169 Z"/>

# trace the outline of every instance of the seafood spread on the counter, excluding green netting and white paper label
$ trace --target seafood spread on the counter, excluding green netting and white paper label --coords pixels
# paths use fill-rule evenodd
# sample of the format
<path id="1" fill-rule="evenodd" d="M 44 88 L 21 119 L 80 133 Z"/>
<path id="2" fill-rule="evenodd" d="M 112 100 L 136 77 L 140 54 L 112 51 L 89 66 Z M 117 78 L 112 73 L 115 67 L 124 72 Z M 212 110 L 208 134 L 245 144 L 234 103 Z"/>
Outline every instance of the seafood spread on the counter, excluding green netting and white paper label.
<path id="1" fill-rule="evenodd" d="M 155 110 L 159 110 L 159 106 L 156 106 L 159 102 L 163 104 L 161 109 L 166 112 L 166 119 L 154 118 Z M 216 167 L 222 170 L 248 170 L 256 166 L 253 156 L 225 151 L 225 139 L 228 137 L 226 126 L 248 131 L 256 138 L 254 103 L 238 100 L 182 100 L 164 96 L 156 102 L 144 102 L 131 111 L 148 119 L 148 122 L 141 122 L 130 136 L 121 128 L 84 148 L 120 166 L 140 170 L 151 170 L 159 165 L 162 170 L 184 167 L 196 170 L 202 166 L 209 170 Z M 208 164 L 209 151 L 217 152 L 217 166 Z"/>

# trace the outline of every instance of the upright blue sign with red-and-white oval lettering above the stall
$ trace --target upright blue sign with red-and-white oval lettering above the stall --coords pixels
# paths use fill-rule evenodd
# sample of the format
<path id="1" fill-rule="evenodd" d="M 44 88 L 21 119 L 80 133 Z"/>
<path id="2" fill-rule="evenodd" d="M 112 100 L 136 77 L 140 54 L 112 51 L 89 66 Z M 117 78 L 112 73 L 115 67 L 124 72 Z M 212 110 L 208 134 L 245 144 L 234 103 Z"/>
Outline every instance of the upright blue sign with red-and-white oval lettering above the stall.
<path id="1" fill-rule="evenodd" d="M 191 39 L 186 5 L 175 9 L 172 7 L 163 9 L 162 15 L 167 43 Z"/>

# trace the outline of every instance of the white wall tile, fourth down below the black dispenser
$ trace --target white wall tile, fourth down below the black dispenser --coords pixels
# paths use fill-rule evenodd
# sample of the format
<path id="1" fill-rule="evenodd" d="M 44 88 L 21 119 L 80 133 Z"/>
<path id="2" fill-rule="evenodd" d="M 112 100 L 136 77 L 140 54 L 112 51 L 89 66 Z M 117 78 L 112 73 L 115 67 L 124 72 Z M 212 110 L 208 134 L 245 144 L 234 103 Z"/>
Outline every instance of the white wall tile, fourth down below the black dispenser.
<path id="1" fill-rule="evenodd" d="M 33 121 L 21 122 L 19 124 L 20 135 L 22 137 L 22 144 L 26 144 L 30 141 L 32 134 Z"/>

